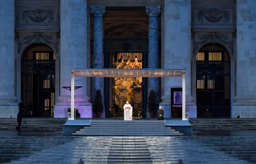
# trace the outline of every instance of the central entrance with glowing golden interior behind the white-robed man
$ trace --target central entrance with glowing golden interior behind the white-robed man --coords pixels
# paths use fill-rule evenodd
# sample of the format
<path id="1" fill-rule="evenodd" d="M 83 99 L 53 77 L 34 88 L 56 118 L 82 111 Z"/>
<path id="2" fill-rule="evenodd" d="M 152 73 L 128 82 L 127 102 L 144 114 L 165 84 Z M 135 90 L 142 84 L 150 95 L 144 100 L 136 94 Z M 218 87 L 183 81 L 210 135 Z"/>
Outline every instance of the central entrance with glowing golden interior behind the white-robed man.
<path id="1" fill-rule="evenodd" d="M 111 49 L 108 49 L 106 44 L 108 47 L 112 45 Z M 133 47 L 136 44 L 137 47 Z M 148 39 L 104 39 L 105 68 L 147 68 L 147 44 Z M 133 117 L 142 117 L 147 109 L 147 78 L 115 77 L 105 78 L 104 81 L 105 109 L 112 109 L 114 117 L 123 117 L 123 106 L 128 101 L 133 107 Z"/>

